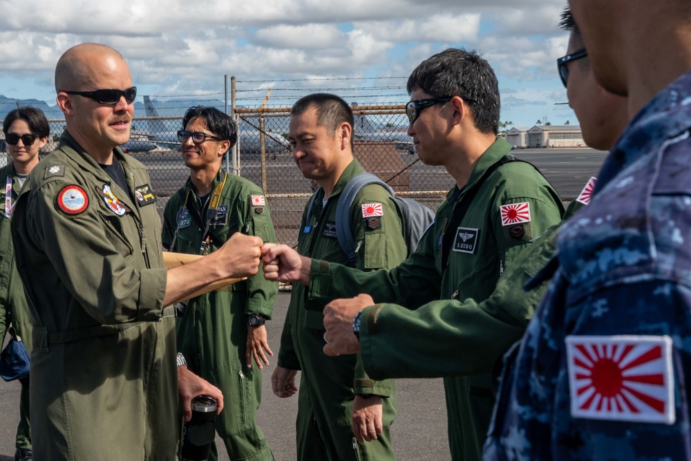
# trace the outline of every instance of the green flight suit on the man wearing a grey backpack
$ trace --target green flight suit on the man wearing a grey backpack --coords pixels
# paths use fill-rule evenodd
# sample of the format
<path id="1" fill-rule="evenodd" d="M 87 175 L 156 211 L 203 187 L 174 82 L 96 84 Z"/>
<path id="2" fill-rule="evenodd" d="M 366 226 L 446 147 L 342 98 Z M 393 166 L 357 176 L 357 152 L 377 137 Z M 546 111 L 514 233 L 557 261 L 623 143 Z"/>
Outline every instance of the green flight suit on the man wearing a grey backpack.
<path id="1" fill-rule="evenodd" d="M 305 256 L 349 264 L 336 237 L 336 205 L 348 180 L 363 169 L 353 160 L 341 174 L 323 207 L 323 190 L 314 200 L 310 220 L 307 207 L 298 236 L 298 252 Z M 361 205 L 381 204 L 382 216 L 363 217 Z M 359 270 L 394 267 L 406 258 L 408 247 L 395 200 L 379 185 L 363 187 L 350 211 Z M 297 459 L 301 461 L 392 460 L 390 425 L 396 413 L 395 382 L 374 381 L 364 373 L 359 355 L 328 357 L 323 353 L 324 325 L 321 312 L 307 310 L 305 287 L 294 284 L 285 317 L 278 366 L 302 370 L 297 426 Z M 329 299 L 319 301 L 319 310 Z M 377 440 L 355 442 L 350 421 L 354 394 L 381 395 L 384 432 Z"/>

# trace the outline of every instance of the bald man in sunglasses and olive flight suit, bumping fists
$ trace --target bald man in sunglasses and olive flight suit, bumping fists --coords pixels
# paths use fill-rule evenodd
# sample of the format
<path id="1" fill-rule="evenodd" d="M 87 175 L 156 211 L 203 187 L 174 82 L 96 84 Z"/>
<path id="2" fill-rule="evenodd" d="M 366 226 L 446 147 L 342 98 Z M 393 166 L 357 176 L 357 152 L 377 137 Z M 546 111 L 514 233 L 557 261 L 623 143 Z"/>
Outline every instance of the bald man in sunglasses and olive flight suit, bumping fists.
<path id="1" fill-rule="evenodd" d="M 202 261 L 166 270 L 149 173 L 117 148 L 129 139 L 136 95 L 123 57 L 100 44 L 70 48 L 55 88 L 66 130 L 12 212 L 34 328 L 34 455 L 171 460 L 178 402 L 187 420 L 196 395 L 223 408 L 218 388 L 176 358 L 173 303 L 256 274 L 262 241 L 236 234 Z"/>

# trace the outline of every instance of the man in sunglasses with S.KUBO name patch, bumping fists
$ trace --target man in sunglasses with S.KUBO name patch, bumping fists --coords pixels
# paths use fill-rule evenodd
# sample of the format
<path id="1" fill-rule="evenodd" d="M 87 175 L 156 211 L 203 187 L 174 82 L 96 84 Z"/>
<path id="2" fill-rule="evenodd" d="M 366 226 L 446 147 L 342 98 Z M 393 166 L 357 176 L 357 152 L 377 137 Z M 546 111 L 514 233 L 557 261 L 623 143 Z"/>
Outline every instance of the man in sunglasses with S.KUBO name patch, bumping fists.
<path id="1" fill-rule="evenodd" d="M 366 317 L 354 318 L 356 334 L 364 323 L 376 321 L 385 303 L 415 309 L 431 301 L 484 301 L 504 268 L 513 264 L 533 237 L 558 223 L 564 212 L 556 191 L 539 171 L 507 158 L 511 146 L 497 138 L 497 79 L 477 53 L 451 48 L 430 57 L 410 75 L 408 92 L 412 98 L 406 106 L 408 135 L 419 158 L 426 164 L 443 165 L 455 180 L 417 252 L 390 271 L 366 274 L 301 258 L 285 245 L 263 250 L 265 276 L 309 285 L 310 299 L 367 293 L 347 301 L 357 303 L 360 310 L 379 303 Z M 499 328 L 478 328 L 475 334 L 489 341 L 504 340 Z M 361 350 L 363 355 L 376 353 Z M 486 360 L 478 365 L 481 371 L 471 376 L 444 378 L 454 460 L 480 458 L 494 404 L 489 375 L 493 365 L 493 360 Z M 388 376 L 375 373 L 372 377 Z M 410 370 L 410 376 L 424 373 Z"/>

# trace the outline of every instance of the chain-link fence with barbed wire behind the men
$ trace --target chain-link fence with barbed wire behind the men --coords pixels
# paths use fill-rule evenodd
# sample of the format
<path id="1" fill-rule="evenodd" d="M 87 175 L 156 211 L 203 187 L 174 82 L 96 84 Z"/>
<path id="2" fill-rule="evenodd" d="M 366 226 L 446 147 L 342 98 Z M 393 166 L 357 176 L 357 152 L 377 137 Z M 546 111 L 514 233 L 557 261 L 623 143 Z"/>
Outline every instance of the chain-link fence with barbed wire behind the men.
<path id="1" fill-rule="evenodd" d="M 286 102 L 292 104 L 298 97 L 291 97 Z M 397 99 L 400 101 L 403 97 Z M 123 146 L 149 168 L 151 185 L 160 197 L 157 203 L 160 214 L 169 197 L 189 177 L 180 156 L 176 131 L 182 128 L 185 109 L 200 103 L 225 109 L 219 100 L 200 99 L 176 100 L 169 104 L 157 101 L 154 106 L 145 96 L 143 109 L 146 117 L 134 118 L 131 138 Z M 239 136 L 238 146 L 225 159 L 224 168 L 263 189 L 278 241 L 296 245 L 303 208 L 316 184 L 301 176 L 292 159 L 287 142 L 290 106 L 267 106 L 265 103 L 256 106 L 234 104 L 235 109 L 229 108 L 238 121 Z M 353 103 L 352 107 L 355 115 L 354 154 L 366 171 L 375 173 L 397 194 L 415 198 L 436 209 L 446 191 L 453 186 L 453 178 L 443 167 L 429 167 L 417 158 L 411 138 L 406 134 L 408 119 L 404 104 Z M 64 120 L 49 122 L 52 139 L 42 149 L 44 152 L 57 146 L 59 135 L 65 128 Z M 4 150 L 2 147 L 0 145 L 0 151 Z M 7 161 L 6 155 L 0 153 L 0 164 Z"/>

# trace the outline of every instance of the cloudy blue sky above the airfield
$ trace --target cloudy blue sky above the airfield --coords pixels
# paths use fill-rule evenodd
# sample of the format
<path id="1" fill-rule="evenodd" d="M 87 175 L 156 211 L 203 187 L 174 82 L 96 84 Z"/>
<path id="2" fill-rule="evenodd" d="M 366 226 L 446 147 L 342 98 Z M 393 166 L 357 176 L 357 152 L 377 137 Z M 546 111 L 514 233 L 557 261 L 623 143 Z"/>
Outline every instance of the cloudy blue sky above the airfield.
<path id="1" fill-rule="evenodd" d="M 290 105 L 323 89 L 348 102 L 406 102 L 406 77 L 449 47 L 474 48 L 498 75 L 504 122 L 576 124 L 556 73 L 565 0 L 0 0 L 0 95 L 55 103 L 53 70 L 96 41 L 129 63 L 142 95 Z M 144 115 L 144 114 L 141 114 Z"/>

